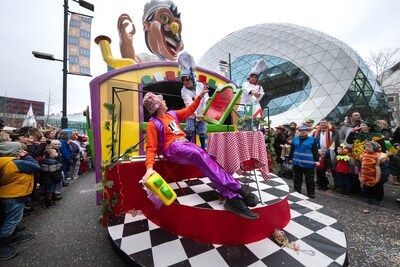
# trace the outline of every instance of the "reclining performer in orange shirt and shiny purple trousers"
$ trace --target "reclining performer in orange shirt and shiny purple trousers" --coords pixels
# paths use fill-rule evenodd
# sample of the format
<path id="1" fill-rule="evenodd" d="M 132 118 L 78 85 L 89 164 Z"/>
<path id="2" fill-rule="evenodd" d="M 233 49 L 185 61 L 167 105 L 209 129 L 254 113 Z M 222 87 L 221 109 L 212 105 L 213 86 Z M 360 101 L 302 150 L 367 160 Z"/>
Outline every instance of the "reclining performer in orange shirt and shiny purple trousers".
<path id="1" fill-rule="evenodd" d="M 191 164 L 199 168 L 214 184 L 218 193 L 226 199 L 224 207 L 246 219 L 257 219 L 259 215 L 251 211 L 259 202 L 257 196 L 241 186 L 232 175 L 226 173 L 210 155 L 196 144 L 186 139 L 180 123 L 185 121 L 198 108 L 202 97 L 208 88 L 201 90 L 193 103 L 181 110 L 168 111 L 162 95 L 146 93 L 143 106 L 148 109 L 152 118 L 147 125 L 146 138 L 146 181 L 155 171 L 153 165 L 156 153 L 162 154 L 167 160 L 178 164 Z"/>

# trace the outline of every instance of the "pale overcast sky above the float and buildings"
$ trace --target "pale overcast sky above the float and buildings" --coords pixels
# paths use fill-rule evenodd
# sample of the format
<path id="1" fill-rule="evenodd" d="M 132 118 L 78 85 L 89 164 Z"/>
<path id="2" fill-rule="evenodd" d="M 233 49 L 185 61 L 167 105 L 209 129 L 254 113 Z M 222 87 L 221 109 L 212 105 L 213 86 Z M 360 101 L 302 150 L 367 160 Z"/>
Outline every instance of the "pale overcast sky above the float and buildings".
<path id="1" fill-rule="evenodd" d="M 112 39 L 114 57 L 120 57 L 117 20 L 128 13 L 136 27 L 136 52 L 148 52 L 141 22 L 147 0 L 89 0 L 95 12 L 69 1 L 71 11 L 93 15 L 92 40 L 100 34 Z M 400 46 L 400 1 L 321 0 L 175 0 L 181 13 L 185 50 L 196 61 L 217 41 L 239 29 L 261 23 L 285 22 L 310 27 L 350 45 L 364 59 L 371 51 Z M 63 0 L 15 0 L 1 4 L 0 95 L 47 102 L 56 100 L 52 113 L 61 111 L 62 63 L 36 59 L 32 50 L 63 52 Z M 106 71 L 99 47 L 92 41 L 92 75 Z M 68 75 L 68 113 L 89 105 L 92 78 Z M 47 103 L 46 103 L 47 109 Z"/>

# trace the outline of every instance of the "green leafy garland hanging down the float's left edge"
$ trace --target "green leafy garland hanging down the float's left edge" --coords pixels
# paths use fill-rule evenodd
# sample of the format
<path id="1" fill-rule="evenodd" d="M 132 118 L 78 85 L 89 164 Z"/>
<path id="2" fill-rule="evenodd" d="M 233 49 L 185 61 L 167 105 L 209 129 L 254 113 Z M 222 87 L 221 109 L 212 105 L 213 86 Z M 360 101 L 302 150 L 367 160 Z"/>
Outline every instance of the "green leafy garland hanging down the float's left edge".
<path id="1" fill-rule="evenodd" d="M 119 192 L 114 192 L 112 195 L 108 193 L 108 191 L 113 188 L 114 182 L 108 179 L 107 172 L 115 167 L 118 160 L 128 160 L 129 155 L 137 151 L 136 147 L 139 144 L 130 146 L 121 156 L 113 156 L 115 155 L 115 145 L 118 143 L 114 130 L 118 115 L 115 114 L 115 104 L 104 103 L 103 106 L 107 110 L 108 115 L 111 116 L 111 121 L 106 121 L 104 123 L 104 129 L 111 131 L 110 143 L 106 145 L 106 148 L 109 150 L 108 154 L 110 154 L 110 159 L 101 162 L 101 180 L 96 184 L 96 191 L 100 192 L 103 196 L 101 215 L 98 221 L 101 225 L 106 226 L 112 214 L 112 209 L 117 205 L 120 196 L 122 196 L 122 193 Z"/>

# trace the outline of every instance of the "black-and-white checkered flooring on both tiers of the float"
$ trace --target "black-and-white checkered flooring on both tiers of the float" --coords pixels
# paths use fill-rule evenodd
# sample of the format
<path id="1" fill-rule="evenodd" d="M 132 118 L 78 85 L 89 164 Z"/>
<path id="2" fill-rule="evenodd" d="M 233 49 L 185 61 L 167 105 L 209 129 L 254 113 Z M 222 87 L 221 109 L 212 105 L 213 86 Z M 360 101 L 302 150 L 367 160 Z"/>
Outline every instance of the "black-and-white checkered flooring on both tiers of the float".
<path id="1" fill-rule="evenodd" d="M 260 176 L 261 177 L 261 176 Z M 271 175 L 259 183 L 264 204 L 282 200 L 289 187 Z M 239 178 L 243 179 L 246 178 Z M 223 203 L 208 178 L 171 184 L 181 205 L 223 209 Z M 256 191 L 255 183 L 249 184 Z M 257 192 L 255 192 L 257 193 Z M 283 229 L 289 241 L 301 249 L 280 247 L 273 237 L 240 245 L 201 244 L 159 228 L 144 215 L 126 214 L 110 220 L 108 233 L 113 245 L 126 258 L 142 266 L 342 266 L 346 260 L 346 238 L 336 219 L 322 214 L 321 205 L 299 193 L 289 194 L 291 220 Z"/>

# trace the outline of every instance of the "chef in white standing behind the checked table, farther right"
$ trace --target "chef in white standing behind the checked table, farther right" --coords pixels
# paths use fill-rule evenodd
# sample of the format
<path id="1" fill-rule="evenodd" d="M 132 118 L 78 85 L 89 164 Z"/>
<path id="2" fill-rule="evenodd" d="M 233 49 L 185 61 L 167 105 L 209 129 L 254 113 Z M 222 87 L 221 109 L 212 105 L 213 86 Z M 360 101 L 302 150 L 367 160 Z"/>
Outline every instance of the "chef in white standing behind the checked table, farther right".
<path id="1" fill-rule="evenodd" d="M 249 74 L 247 75 L 247 81 L 242 85 L 242 98 L 240 100 L 240 106 L 238 108 L 239 116 L 248 115 L 246 113 L 251 111 L 250 116 L 261 109 L 260 100 L 264 96 L 264 89 L 258 84 L 258 78 L 267 68 L 267 63 L 264 59 L 254 62 Z"/>

